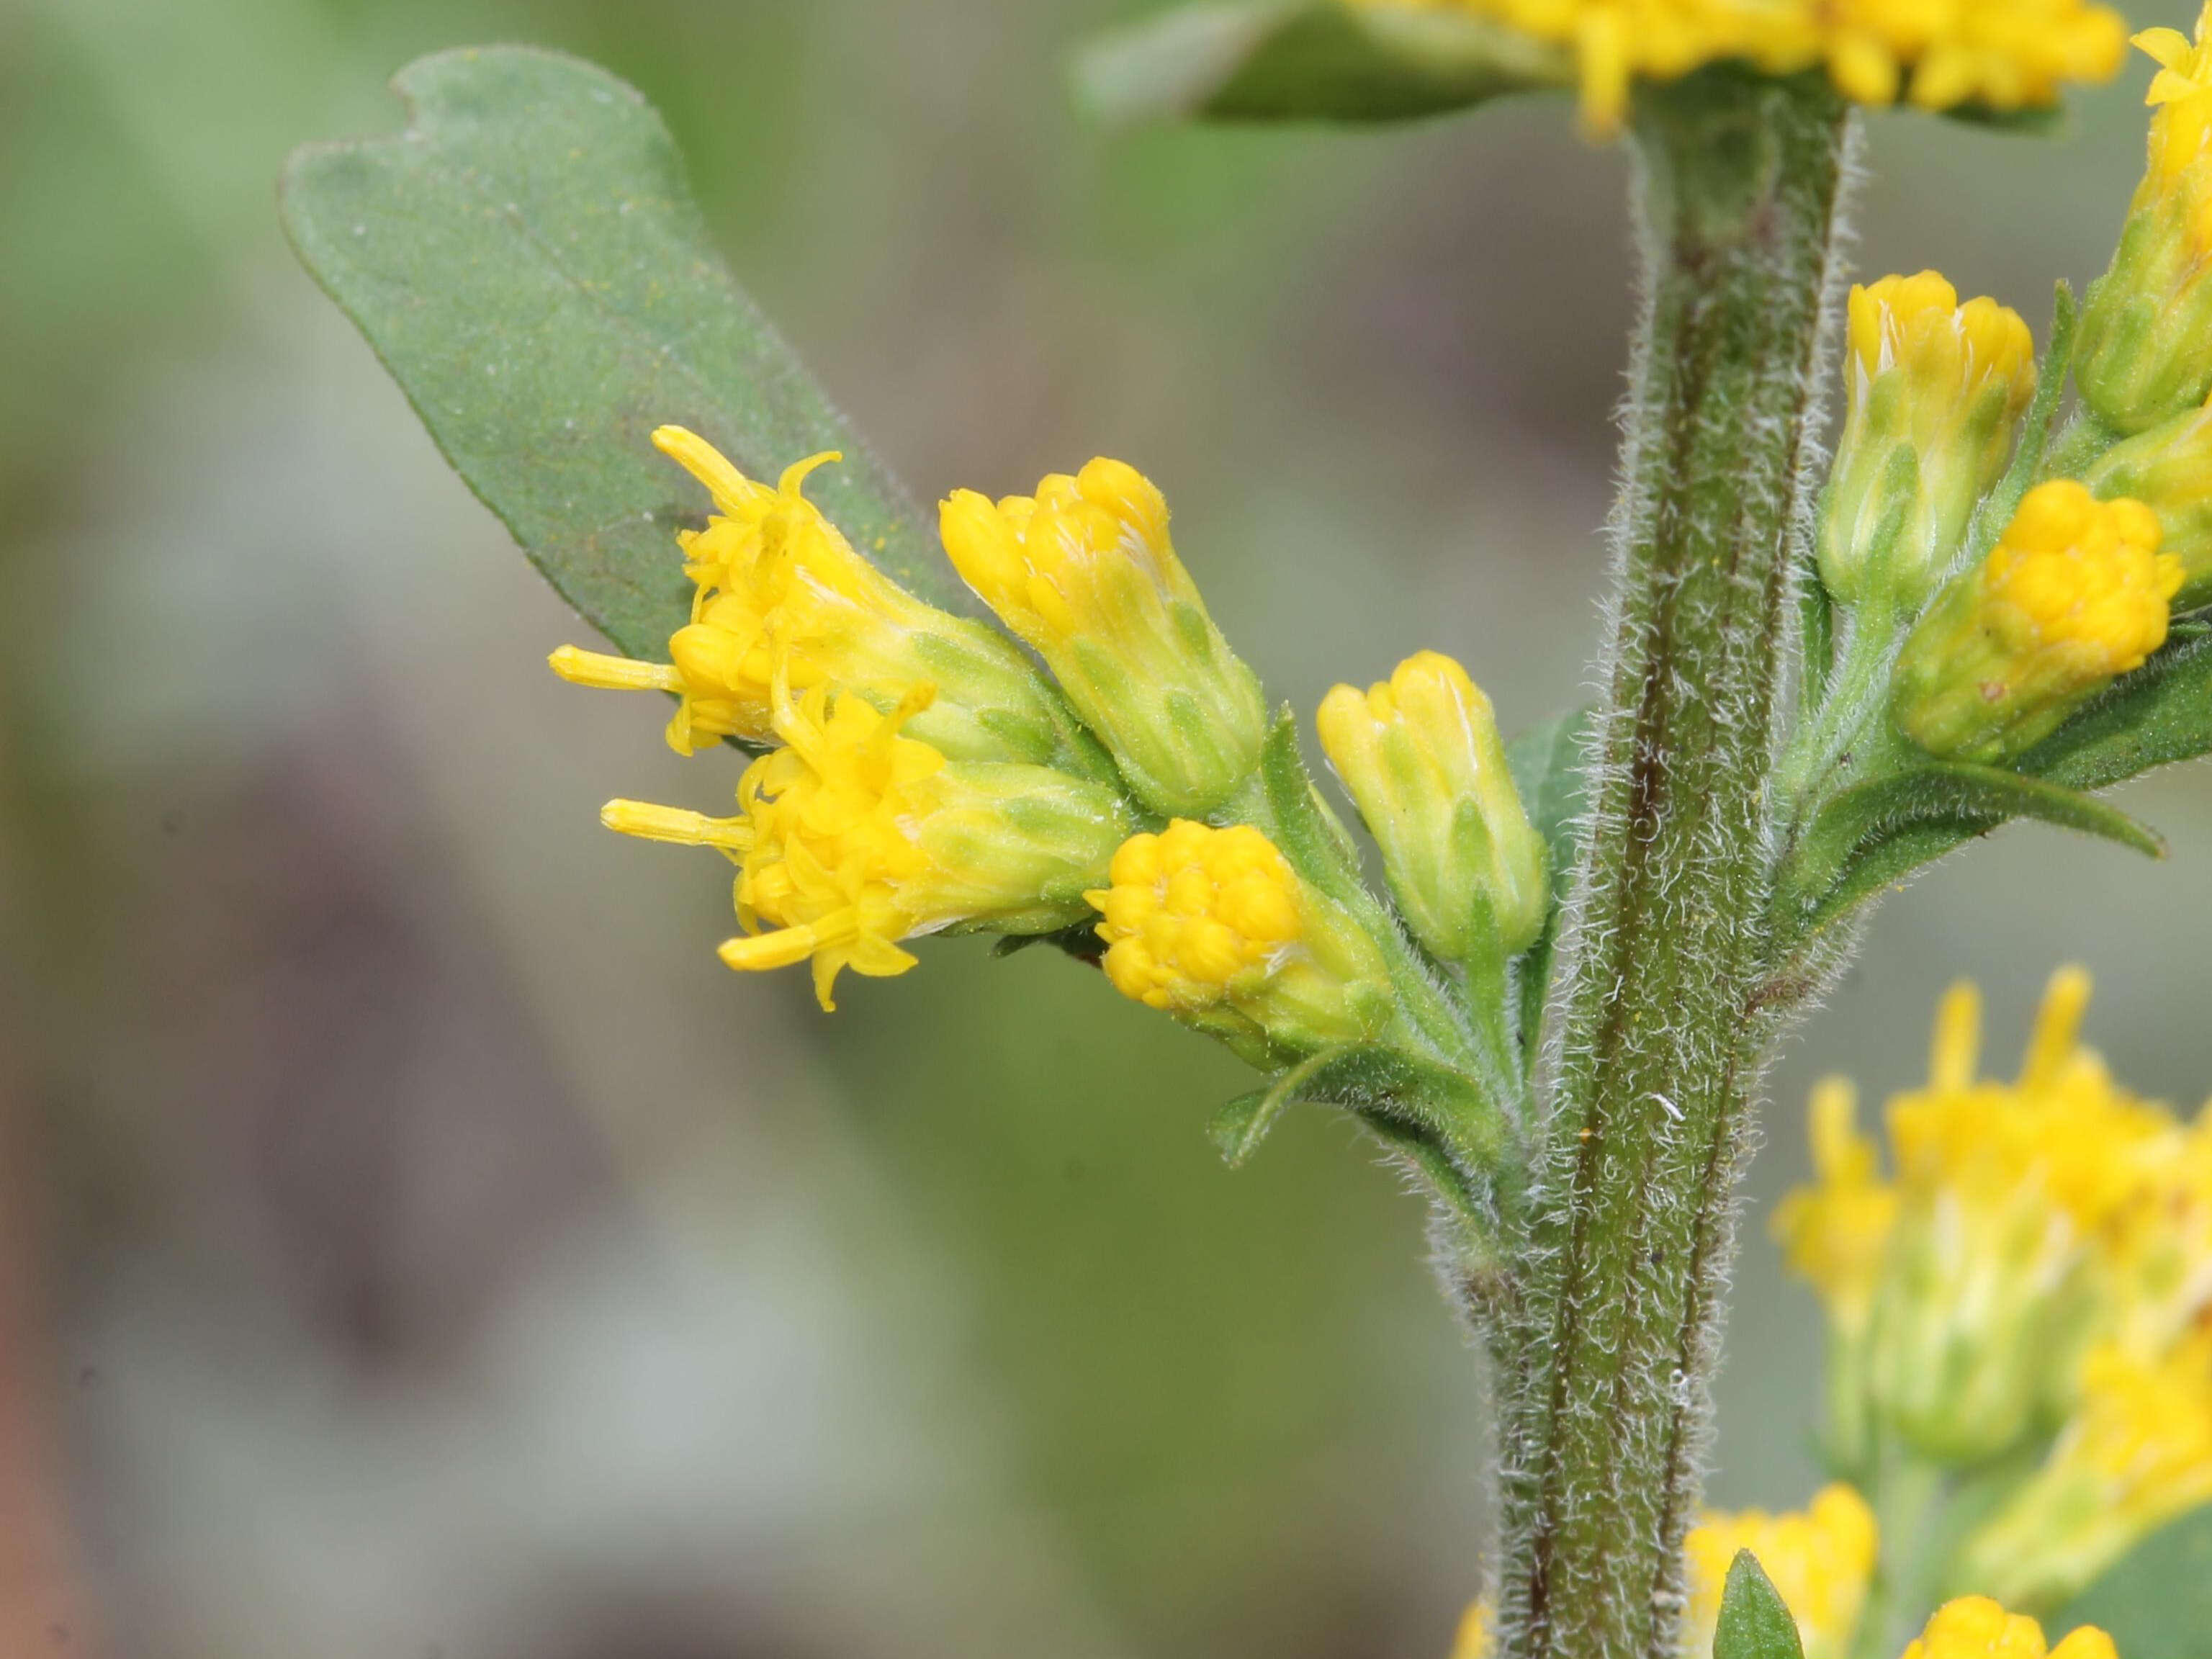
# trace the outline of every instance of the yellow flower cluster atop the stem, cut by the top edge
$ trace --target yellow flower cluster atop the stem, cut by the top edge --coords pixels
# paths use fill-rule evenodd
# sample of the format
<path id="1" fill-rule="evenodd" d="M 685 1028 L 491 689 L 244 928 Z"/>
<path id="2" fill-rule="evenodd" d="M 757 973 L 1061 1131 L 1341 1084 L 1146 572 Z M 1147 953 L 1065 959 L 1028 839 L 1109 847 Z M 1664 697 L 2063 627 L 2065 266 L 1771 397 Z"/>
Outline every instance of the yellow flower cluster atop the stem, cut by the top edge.
<path id="1" fill-rule="evenodd" d="M 2119 13 L 2086 0 L 1422 2 L 1568 46 L 1595 131 L 1619 124 L 1635 80 L 1674 80 L 1721 60 L 1770 75 L 1825 64 L 1863 104 L 2011 111 L 2057 102 L 2066 82 L 2110 80 L 2126 53 Z"/>

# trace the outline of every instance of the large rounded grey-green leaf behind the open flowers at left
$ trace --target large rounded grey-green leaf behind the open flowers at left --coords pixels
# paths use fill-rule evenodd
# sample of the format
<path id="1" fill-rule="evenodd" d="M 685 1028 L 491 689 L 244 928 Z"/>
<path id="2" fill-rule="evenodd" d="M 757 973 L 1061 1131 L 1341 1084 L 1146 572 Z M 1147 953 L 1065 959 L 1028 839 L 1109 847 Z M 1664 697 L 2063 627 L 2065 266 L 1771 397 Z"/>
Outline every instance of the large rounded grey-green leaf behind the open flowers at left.
<path id="1" fill-rule="evenodd" d="M 653 449 L 664 422 L 765 480 L 843 449 L 812 498 L 945 597 L 925 518 L 723 270 L 639 93 L 522 46 L 422 58 L 394 86 L 403 135 L 294 150 L 285 232 L 564 599 L 633 657 L 690 619 L 675 529 L 706 493 Z"/>

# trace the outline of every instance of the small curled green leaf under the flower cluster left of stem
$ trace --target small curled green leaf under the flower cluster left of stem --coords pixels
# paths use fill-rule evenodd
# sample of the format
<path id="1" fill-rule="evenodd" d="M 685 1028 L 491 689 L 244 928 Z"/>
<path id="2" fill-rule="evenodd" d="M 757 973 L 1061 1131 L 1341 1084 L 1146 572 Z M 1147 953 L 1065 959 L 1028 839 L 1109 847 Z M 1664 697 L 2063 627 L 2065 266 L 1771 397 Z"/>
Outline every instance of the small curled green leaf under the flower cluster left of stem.
<path id="1" fill-rule="evenodd" d="M 1380 1042 L 1347 1042 L 1301 1060 L 1221 1106 L 1206 1133 L 1223 1161 L 1241 1168 L 1298 1102 L 1343 1106 L 1387 1141 L 1418 1141 L 1449 1168 L 1455 1157 L 1489 1166 L 1504 1146 L 1504 1119 L 1469 1077 Z M 1464 1175 L 1453 1175 L 1453 1186 L 1464 1190 Z"/>

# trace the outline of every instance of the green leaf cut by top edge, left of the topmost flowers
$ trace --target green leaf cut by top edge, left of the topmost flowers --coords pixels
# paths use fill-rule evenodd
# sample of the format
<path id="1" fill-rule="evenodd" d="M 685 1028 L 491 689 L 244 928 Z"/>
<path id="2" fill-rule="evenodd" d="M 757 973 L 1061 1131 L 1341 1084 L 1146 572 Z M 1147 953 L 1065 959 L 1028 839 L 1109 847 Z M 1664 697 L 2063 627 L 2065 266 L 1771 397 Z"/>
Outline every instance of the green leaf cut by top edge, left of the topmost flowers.
<path id="1" fill-rule="evenodd" d="M 1573 60 L 1462 11 L 1345 0 L 1197 4 L 1084 49 L 1077 97 L 1110 119 L 1396 122 L 1573 84 Z"/>

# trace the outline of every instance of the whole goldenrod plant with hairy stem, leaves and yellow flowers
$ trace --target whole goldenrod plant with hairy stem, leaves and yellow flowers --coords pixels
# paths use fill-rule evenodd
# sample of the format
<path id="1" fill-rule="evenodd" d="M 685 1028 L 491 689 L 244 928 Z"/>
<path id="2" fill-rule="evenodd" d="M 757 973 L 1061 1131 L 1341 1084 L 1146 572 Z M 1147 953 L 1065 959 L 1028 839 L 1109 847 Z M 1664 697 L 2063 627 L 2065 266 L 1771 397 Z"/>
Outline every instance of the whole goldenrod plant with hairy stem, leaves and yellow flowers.
<path id="1" fill-rule="evenodd" d="M 1024 962 L 1095 964 L 1261 1073 L 1212 1124 L 1232 1164 L 1307 1102 L 1418 1177 L 1495 1378 L 1462 1650 L 2042 1659 L 2037 1619 L 2093 1606 L 2051 1652 L 2166 1630 L 2132 1659 L 2203 1659 L 2172 1637 L 2192 1615 L 2154 1624 L 2179 1590 L 2110 1586 L 2190 1559 L 2172 1526 L 2212 1500 L 2212 1152 L 2077 1046 L 2077 975 L 2015 1084 L 1980 1079 L 1955 993 L 1887 1164 L 1847 1086 L 1816 1095 L 1818 1179 L 1778 1228 L 1829 1314 L 1836 1484 L 1796 1515 L 1699 1509 L 1776 1035 L 1913 869 L 2011 818 L 2157 854 L 2099 792 L 2212 752 L 2212 46 L 2205 22 L 2137 44 L 2148 170 L 2039 352 L 2024 292 L 1851 285 L 1838 226 L 1869 108 L 2039 135 L 2112 80 L 2126 24 L 2090 0 L 1256 0 L 1082 55 L 1117 115 L 1559 93 L 1630 150 L 1601 695 L 1537 723 L 1418 650 L 1343 664 L 1301 730 L 1137 465 L 1068 456 L 927 511 L 732 283 L 655 113 L 588 64 L 422 60 L 409 131 L 301 150 L 283 210 L 606 635 L 555 672 L 675 699 L 695 801 L 734 790 L 728 816 L 604 814 L 737 867 L 699 949 L 812 964 L 832 1009 L 933 933 L 1042 942 Z"/>

